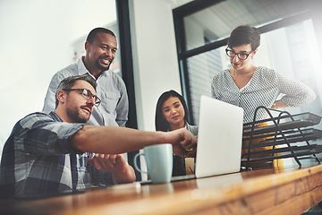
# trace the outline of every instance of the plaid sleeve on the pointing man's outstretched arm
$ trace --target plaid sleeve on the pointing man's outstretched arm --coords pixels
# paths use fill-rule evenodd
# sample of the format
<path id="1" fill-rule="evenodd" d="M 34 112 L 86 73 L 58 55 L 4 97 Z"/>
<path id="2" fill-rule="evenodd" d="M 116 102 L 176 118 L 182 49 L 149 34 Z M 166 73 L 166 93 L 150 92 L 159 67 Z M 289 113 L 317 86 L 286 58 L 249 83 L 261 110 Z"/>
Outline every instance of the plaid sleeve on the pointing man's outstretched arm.
<path id="1" fill-rule="evenodd" d="M 69 140 L 83 126 L 56 122 L 44 113 L 31 114 L 15 126 L 15 148 L 36 155 L 81 154 Z"/>

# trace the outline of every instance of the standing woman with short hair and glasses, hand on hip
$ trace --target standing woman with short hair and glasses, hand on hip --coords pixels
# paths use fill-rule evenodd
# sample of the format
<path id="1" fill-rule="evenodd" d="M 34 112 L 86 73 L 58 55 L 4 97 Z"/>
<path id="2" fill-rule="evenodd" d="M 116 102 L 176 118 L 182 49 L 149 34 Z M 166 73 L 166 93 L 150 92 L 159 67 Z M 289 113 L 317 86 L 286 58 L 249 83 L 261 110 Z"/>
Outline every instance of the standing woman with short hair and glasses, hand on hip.
<path id="1" fill-rule="evenodd" d="M 284 77 L 273 69 L 251 64 L 250 59 L 258 52 L 259 31 L 249 25 L 233 30 L 225 49 L 232 68 L 215 75 L 212 85 L 212 97 L 244 109 L 244 123 L 253 121 L 257 107 L 270 108 L 300 107 L 316 98 L 315 93 L 301 82 Z M 284 94 L 282 99 L 277 99 Z M 267 116 L 265 109 L 259 109 L 256 120 Z M 259 124 L 258 127 L 267 123 Z M 257 142 L 263 140 L 258 139 Z M 253 142 L 256 143 L 256 142 Z M 248 142 L 243 142 L 247 145 Z M 271 149 L 269 147 L 266 150 Z M 243 150 L 247 152 L 247 150 Z M 274 167 L 283 166 L 282 160 L 275 159 Z"/>

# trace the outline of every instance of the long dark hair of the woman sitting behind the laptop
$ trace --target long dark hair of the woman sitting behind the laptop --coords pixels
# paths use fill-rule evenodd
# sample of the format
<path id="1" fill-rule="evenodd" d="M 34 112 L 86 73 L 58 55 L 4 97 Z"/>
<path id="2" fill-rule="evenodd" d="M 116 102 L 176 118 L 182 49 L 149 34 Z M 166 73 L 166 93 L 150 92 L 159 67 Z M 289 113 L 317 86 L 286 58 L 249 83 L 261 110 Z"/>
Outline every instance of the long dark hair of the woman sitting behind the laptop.
<path id="1" fill-rule="evenodd" d="M 166 121 L 165 116 L 162 112 L 162 106 L 165 103 L 165 100 L 169 99 L 170 97 L 176 97 L 180 99 L 182 106 L 184 108 L 184 124 L 188 122 L 188 108 L 185 100 L 183 99 L 182 95 L 174 90 L 165 91 L 157 100 L 157 108 L 156 108 L 156 131 L 163 131 L 167 132 L 169 130 L 169 123 Z"/>

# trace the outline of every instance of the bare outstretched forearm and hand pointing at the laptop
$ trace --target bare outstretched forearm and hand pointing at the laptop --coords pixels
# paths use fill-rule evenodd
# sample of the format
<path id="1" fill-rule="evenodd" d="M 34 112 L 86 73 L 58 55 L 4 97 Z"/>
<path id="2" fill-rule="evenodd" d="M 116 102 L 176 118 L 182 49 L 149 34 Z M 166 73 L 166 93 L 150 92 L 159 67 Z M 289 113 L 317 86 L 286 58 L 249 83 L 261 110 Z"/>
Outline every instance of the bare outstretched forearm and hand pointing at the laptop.
<path id="1" fill-rule="evenodd" d="M 85 125 L 71 138 L 72 146 L 81 151 L 120 154 L 145 146 L 172 143 L 174 154 L 193 156 L 197 138 L 185 128 L 173 132 L 144 132 L 126 127 Z"/>

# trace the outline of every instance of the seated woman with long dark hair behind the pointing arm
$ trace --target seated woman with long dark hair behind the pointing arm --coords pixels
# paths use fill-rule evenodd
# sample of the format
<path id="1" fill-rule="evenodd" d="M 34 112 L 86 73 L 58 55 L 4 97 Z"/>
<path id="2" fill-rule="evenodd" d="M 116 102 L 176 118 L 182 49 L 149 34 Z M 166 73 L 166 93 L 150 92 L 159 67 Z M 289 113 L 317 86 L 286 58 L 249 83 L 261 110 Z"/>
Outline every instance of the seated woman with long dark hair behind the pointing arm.
<path id="1" fill-rule="evenodd" d="M 157 100 L 156 130 L 169 132 L 185 127 L 198 134 L 198 126 L 188 123 L 188 108 L 182 95 L 174 90 L 165 91 Z M 173 176 L 190 175 L 194 172 L 194 159 L 174 155 Z"/>

